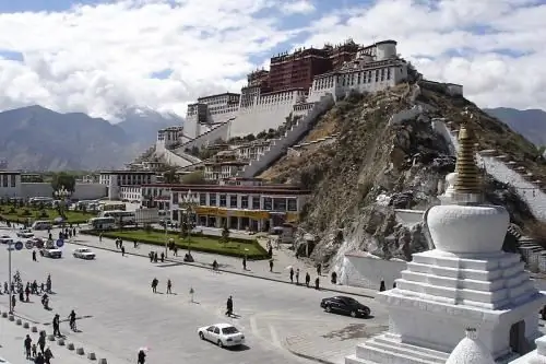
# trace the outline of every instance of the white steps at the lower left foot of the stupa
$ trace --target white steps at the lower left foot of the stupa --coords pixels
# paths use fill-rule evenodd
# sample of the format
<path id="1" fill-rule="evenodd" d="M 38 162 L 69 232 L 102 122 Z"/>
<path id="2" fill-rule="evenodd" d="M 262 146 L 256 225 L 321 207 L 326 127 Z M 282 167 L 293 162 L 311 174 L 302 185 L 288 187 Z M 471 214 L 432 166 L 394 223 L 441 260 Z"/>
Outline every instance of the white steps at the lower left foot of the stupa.
<path id="1" fill-rule="evenodd" d="M 345 364 L 444 364 L 448 357 L 449 353 L 402 343 L 396 334 L 385 332 L 357 345 Z"/>

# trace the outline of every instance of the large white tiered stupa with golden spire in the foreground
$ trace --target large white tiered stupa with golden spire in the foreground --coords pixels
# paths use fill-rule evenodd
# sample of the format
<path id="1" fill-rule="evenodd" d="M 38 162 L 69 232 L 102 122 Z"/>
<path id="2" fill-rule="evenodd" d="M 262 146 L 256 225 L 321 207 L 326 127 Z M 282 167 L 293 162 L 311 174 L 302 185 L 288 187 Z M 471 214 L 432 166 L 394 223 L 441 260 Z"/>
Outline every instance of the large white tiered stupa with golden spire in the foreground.
<path id="1" fill-rule="evenodd" d="M 378 295 L 389 309 L 389 331 L 359 344 L 346 364 L 446 363 L 468 327 L 496 363 L 534 348 L 546 296 L 520 256 L 501 250 L 509 214 L 483 204 L 474 138 L 466 127 L 459 145 L 456 175 L 448 176 L 442 204 L 425 213 L 436 248 L 414 254 L 396 287 Z"/>

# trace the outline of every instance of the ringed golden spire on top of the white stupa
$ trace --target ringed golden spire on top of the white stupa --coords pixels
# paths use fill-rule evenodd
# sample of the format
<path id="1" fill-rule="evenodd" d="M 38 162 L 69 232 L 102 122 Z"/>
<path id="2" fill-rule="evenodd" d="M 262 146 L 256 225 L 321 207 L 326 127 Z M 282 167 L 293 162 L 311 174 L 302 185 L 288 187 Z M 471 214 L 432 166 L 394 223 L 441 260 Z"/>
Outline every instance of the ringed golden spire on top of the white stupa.
<path id="1" fill-rule="evenodd" d="M 466 195 L 482 193 L 480 173 L 474 160 L 474 133 L 463 124 L 459 130 L 459 153 L 456 154 L 455 192 Z"/>

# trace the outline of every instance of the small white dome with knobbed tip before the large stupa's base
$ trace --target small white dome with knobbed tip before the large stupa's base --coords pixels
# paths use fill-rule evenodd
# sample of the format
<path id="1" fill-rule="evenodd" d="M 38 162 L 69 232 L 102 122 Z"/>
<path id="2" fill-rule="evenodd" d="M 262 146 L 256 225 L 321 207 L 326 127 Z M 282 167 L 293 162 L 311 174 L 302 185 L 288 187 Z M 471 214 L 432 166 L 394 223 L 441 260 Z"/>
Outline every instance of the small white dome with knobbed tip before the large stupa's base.
<path id="1" fill-rule="evenodd" d="M 467 329 L 446 364 L 495 364 L 489 350 L 479 341 L 476 329 Z"/>

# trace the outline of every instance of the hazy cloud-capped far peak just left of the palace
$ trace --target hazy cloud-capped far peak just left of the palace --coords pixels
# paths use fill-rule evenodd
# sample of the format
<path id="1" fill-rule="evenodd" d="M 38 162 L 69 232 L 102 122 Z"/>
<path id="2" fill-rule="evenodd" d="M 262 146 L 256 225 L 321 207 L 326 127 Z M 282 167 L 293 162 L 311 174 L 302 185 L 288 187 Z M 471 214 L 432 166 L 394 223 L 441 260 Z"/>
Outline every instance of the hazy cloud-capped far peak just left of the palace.
<path id="1" fill-rule="evenodd" d="M 157 137 L 157 130 L 181 126 L 183 119 L 176 114 L 158 113 L 149 108 L 128 108 L 117 115 L 121 119 L 118 127 L 138 143 L 152 144 Z"/>

